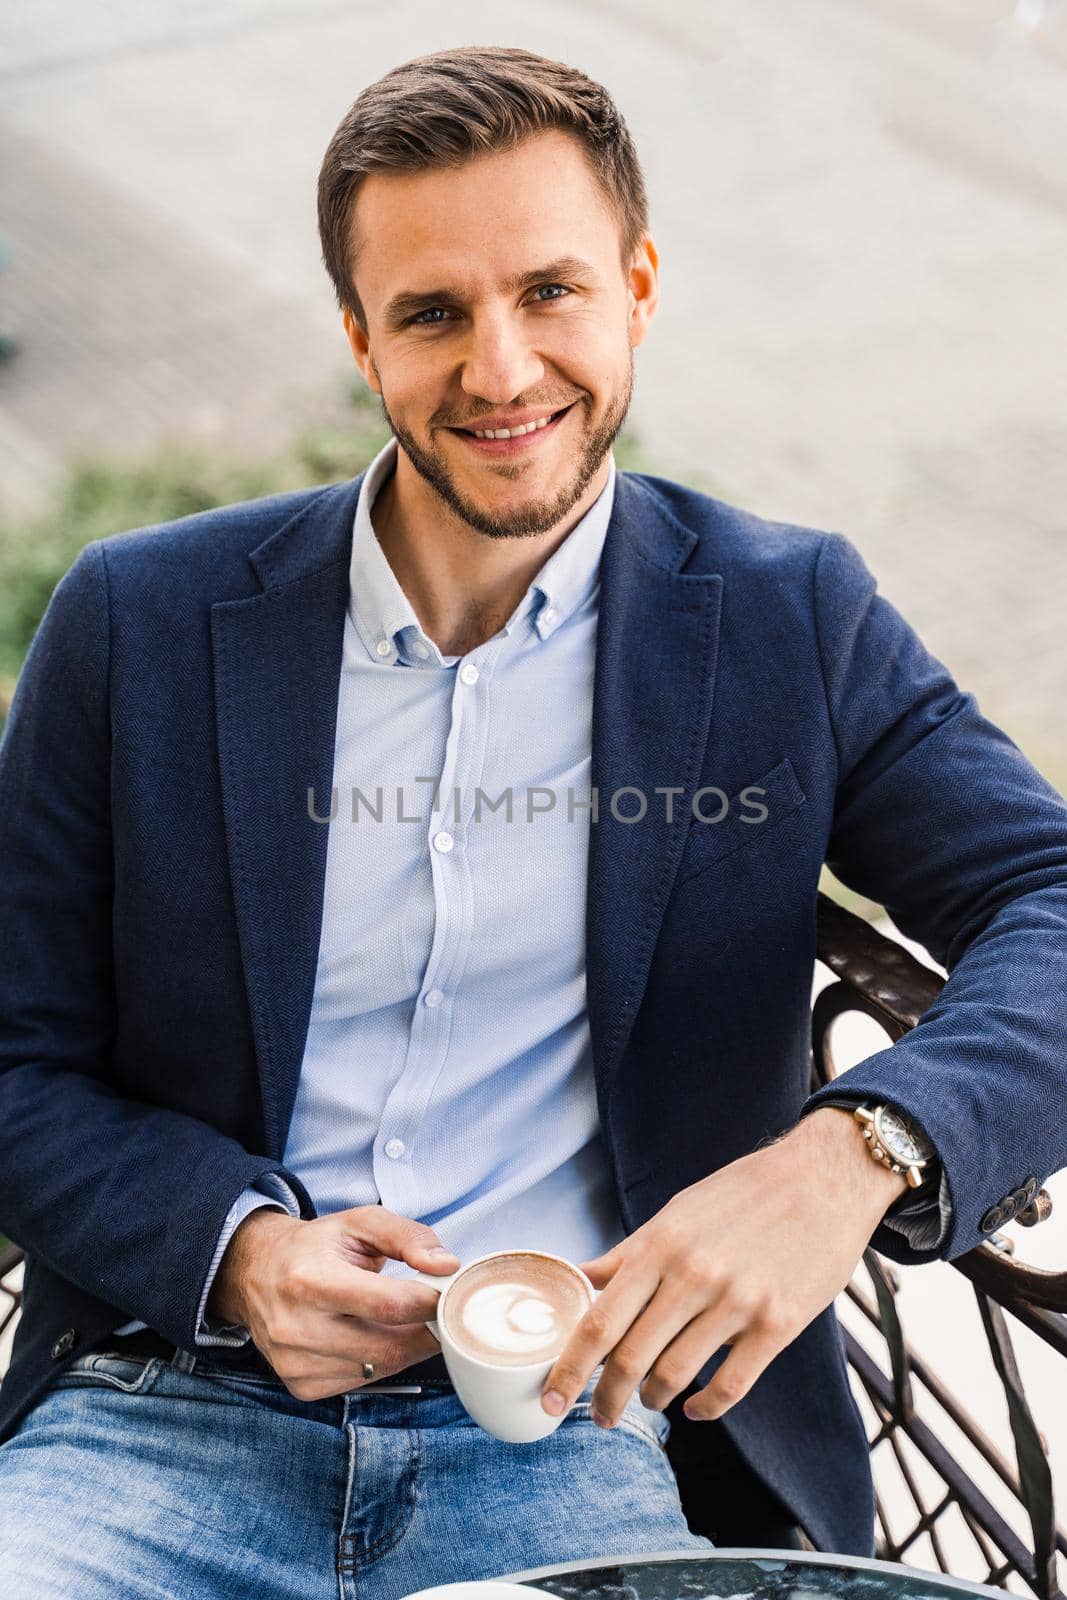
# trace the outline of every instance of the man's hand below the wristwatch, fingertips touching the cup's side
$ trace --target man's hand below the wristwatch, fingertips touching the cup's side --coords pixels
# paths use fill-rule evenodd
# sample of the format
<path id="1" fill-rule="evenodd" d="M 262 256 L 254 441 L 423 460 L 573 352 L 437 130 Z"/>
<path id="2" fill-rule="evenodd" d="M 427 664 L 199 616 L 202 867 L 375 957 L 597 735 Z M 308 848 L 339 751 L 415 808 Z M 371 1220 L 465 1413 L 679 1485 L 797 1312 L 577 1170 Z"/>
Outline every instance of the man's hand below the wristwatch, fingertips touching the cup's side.
<path id="1" fill-rule="evenodd" d="M 851 1114 L 827 1106 L 683 1189 L 614 1250 L 581 1264 L 603 1293 L 549 1373 L 544 1410 L 566 1411 L 603 1362 L 593 1421 L 613 1427 L 638 1387 L 662 1411 L 728 1344 L 685 1406 L 697 1421 L 721 1416 L 845 1288 L 905 1187 L 870 1160 Z"/>

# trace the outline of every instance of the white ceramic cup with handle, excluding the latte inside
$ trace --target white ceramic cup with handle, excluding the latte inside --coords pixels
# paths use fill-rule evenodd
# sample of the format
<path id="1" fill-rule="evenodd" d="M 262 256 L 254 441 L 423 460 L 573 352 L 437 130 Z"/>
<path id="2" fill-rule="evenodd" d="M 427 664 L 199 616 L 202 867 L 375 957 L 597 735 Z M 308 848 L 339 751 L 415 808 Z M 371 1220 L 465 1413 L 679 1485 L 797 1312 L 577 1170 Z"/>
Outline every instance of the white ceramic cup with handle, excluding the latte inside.
<path id="1" fill-rule="evenodd" d="M 597 1291 L 573 1261 L 553 1256 L 549 1250 L 491 1250 L 488 1254 L 478 1256 L 477 1261 L 464 1262 L 450 1278 L 438 1278 L 429 1272 L 416 1274 L 422 1283 L 429 1283 L 430 1288 L 442 1291 L 442 1298 L 437 1302 L 437 1317 L 427 1323 L 427 1328 L 442 1347 L 448 1376 L 469 1414 L 486 1434 L 493 1434 L 494 1438 L 501 1438 L 507 1445 L 531 1445 L 534 1440 L 547 1438 L 549 1434 L 553 1434 L 566 1416 L 566 1413 L 563 1416 L 549 1416 L 541 1405 L 541 1390 L 544 1389 L 545 1378 L 555 1366 L 557 1357 L 552 1355 L 549 1360 L 531 1362 L 526 1366 L 494 1366 L 491 1362 L 470 1355 L 469 1350 L 461 1350 L 445 1323 L 445 1306 L 448 1304 L 453 1285 L 472 1267 L 480 1266 L 483 1261 L 493 1261 L 498 1256 L 536 1256 L 542 1261 L 558 1261 L 585 1285 L 590 1306 L 597 1298 Z"/>

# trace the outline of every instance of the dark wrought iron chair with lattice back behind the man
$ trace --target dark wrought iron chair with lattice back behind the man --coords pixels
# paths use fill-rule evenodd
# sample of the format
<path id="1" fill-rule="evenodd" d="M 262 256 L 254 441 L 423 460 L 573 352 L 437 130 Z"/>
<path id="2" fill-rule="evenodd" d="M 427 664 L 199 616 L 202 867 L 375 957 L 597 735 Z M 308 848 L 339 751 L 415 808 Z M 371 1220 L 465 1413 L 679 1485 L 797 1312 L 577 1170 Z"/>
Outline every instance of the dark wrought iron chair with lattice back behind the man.
<path id="1" fill-rule="evenodd" d="M 873 1018 L 893 1042 L 913 1027 L 939 994 L 944 979 L 917 962 L 899 944 L 854 917 L 825 894 L 819 896 L 819 960 L 837 981 L 824 989 L 813 1010 L 813 1083 L 835 1075 L 830 1030 L 837 1018 L 859 1011 Z M 1051 1210 L 1041 1190 L 1016 1221 L 1040 1222 Z M 19 1312 L 21 1293 L 14 1285 L 22 1251 L 16 1245 L 0 1250 L 0 1339 Z M 1014 1262 L 1009 1242 L 993 1235 L 987 1243 L 952 1262 L 969 1278 L 977 1298 L 981 1323 L 989 1341 L 992 1365 L 1003 1387 L 1014 1462 L 1008 1461 L 968 1414 L 961 1400 L 917 1357 L 907 1344 L 897 1312 L 897 1275 L 869 1250 L 864 1267 L 872 1293 L 857 1280 L 848 1298 L 878 1330 L 885 1360 L 877 1360 L 848 1328 L 845 1342 L 853 1381 L 867 1397 L 875 1426 L 870 1432 L 875 1499 L 878 1512 L 878 1554 L 885 1560 L 909 1560 L 923 1536 L 934 1558 L 949 1571 L 941 1539 L 941 1523 L 950 1512 L 963 1518 L 976 1547 L 984 1582 L 1008 1587 L 1019 1582 L 1040 1600 L 1067 1600 L 1057 1581 L 1057 1552 L 1067 1555 L 1067 1536 L 1056 1526 L 1053 1477 L 1045 1440 L 1027 1403 L 1011 1344 L 1005 1312 L 1030 1328 L 1059 1355 L 1067 1355 L 1067 1270 L 1041 1272 Z M 923 1392 L 923 1414 L 917 1406 L 917 1386 Z M 931 1421 L 926 1414 L 936 1413 Z M 1021 1538 L 992 1504 L 979 1483 L 952 1453 L 947 1437 L 963 1434 L 1000 1478 L 1005 1494 L 1025 1514 L 1030 1538 Z M 920 1485 L 915 1466 L 939 1485 L 931 1494 Z M 881 1485 L 893 1470 L 897 1490 L 905 1486 L 909 1525 L 893 1531 Z"/>

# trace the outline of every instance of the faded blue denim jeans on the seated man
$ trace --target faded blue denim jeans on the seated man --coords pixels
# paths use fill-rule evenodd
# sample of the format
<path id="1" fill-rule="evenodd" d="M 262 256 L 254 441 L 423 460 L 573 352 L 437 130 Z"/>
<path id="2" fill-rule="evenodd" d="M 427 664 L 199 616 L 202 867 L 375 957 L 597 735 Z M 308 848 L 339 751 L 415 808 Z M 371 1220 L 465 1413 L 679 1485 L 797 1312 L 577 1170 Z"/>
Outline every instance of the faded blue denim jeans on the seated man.
<path id="1" fill-rule="evenodd" d="M 0 1445 L 5 1600 L 400 1600 L 461 1578 L 651 1550 L 686 1528 L 667 1419 L 589 1395 L 536 1445 L 445 1382 L 298 1400 L 178 1350 L 90 1354 Z"/>

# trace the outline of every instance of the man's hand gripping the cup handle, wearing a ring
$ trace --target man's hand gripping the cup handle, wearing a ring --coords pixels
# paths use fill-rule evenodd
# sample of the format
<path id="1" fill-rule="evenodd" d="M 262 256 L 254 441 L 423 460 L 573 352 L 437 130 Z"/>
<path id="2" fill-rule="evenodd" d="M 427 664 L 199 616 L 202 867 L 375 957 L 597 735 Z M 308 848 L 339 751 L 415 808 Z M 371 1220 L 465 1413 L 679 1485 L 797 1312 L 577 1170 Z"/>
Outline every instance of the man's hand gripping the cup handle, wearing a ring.
<path id="1" fill-rule="evenodd" d="M 310 1222 L 261 1208 L 240 1222 L 208 1296 L 208 1314 L 248 1328 L 298 1400 L 325 1400 L 437 1355 L 426 1323 L 438 1291 L 382 1278 L 386 1261 L 442 1277 L 459 1269 L 424 1222 L 379 1205 Z"/>

